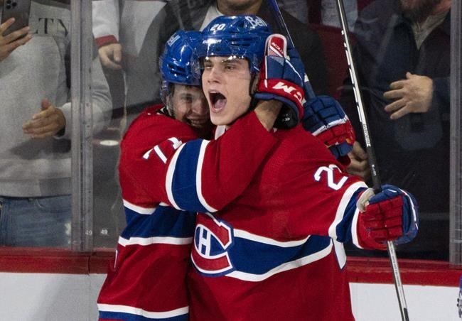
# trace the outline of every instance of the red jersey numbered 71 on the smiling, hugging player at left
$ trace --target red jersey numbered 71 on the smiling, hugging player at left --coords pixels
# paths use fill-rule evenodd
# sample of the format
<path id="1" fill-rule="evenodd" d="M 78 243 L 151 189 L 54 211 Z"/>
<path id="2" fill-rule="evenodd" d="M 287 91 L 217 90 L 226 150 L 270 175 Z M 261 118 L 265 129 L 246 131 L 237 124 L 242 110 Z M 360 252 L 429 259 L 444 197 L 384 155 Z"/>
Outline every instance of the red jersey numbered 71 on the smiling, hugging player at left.
<path id="1" fill-rule="evenodd" d="M 183 212 L 161 203 L 165 192 L 167 160 L 182 143 L 195 137 L 188 124 L 176 121 L 159 111 L 160 106 L 146 109 L 130 126 L 121 144 L 119 179 L 124 198 L 127 227 L 117 244 L 116 257 L 97 300 L 100 320 L 188 320 L 186 271 L 195 228 L 195 212 Z M 252 113 L 253 114 L 253 113 Z M 204 191 L 211 206 L 230 202 L 245 190 L 259 163 L 272 149 L 276 138 L 263 129 L 256 116 L 246 116 L 236 129 L 220 141 L 197 139 L 193 146 L 203 146 L 201 164 L 207 168 L 229 166 L 242 168 L 246 178 L 204 175 L 225 189 Z M 262 139 L 236 146 L 247 129 L 256 128 Z M 221 151 L 247 148 L 250 158 L 228 164 Z M 190 192 L 187 190 L 186 192 Z M 221 195 L 225 192 L 225 196 Z M 197 200 L 198 195 L 190 195 Z"/>

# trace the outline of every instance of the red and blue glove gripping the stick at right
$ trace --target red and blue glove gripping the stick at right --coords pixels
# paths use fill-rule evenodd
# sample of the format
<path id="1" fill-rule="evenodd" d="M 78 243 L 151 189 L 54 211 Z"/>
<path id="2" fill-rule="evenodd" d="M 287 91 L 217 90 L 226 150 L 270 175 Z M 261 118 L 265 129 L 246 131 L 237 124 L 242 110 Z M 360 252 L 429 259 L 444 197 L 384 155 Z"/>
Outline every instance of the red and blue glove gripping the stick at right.
<path id="1" fill-rule="evenodd" d="M 387 241 L 394 241 L 394 244 L 412 241 L 419 229 L 414 197 L 393 185 L 383 185 L 382 191 L 375 195 L 371 191 L 365 190 L 358 200 L 361 212 L 357 224 L 357 245 L 363 249 L 385 250 Z"/>

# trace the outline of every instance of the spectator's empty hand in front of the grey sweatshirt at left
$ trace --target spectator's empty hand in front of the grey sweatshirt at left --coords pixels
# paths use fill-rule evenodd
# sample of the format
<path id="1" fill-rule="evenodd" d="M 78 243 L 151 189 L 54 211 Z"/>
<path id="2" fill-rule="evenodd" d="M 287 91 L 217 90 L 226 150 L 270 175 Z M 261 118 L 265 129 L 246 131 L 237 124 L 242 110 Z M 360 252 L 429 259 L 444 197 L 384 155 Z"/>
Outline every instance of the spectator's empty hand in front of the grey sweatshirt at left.
<path id="1" fill-rule="evenodd" d="M 45 138 L 58 134 L 66 125 L 66 120 L 59 108 L 56 108 L 48 99 L 42 100 L 41 111 L 32 116 L 30 121 L 23 124 L 24 134 L 32 138 Z"/>

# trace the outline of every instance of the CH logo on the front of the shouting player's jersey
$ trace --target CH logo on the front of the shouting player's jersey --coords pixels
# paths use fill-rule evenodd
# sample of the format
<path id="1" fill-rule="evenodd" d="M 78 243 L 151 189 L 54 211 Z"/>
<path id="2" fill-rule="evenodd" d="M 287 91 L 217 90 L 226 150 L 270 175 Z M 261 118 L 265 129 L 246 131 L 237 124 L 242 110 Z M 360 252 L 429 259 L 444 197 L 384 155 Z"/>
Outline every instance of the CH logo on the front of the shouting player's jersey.
<path id="1" fill-rule="evenodd" d="M 229 249 L 233 244 L 232 228 L 210 214 L 198 214 L 191 259 L 206 276 L 222 276 L 234 270 Z"/>

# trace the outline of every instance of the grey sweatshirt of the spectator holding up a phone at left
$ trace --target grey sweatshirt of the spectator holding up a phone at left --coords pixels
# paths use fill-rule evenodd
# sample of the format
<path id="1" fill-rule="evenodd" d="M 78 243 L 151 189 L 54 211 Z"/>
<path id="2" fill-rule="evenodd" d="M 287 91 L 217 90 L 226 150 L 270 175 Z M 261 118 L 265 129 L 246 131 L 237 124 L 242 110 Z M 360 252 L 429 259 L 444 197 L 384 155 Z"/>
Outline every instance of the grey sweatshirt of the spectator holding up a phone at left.
<path id="1" fill-rule="evenodd" d="M 33 38 L 0 61 L 0 195 L 70 194 L 70 8 L 56 1 L 31 4 Z M 22 125 L 48 98 L 63 111 L 65 134 L 33 139 Z M 109 87 L 95 55 L 92 62 L 95 132 L 110 118 Z"/>

